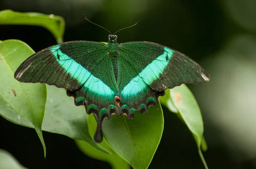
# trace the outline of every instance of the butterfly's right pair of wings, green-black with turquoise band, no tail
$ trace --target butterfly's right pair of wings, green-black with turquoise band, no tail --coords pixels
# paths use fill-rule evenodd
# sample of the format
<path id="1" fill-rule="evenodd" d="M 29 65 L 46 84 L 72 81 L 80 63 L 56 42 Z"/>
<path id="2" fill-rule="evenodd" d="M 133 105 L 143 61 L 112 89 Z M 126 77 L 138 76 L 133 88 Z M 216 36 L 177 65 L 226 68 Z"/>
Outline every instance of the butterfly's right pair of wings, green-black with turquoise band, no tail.
<path id="1" fill-rule="evenodd" d="M 119 45 L 117 85 L 122 112 L 133 117 L 135 110 L 146 112 L 156 105 L 164 90 L 183 83 L 205 83 L 208 73 L 188 56 L 152 42 L 127 42 Z"/>

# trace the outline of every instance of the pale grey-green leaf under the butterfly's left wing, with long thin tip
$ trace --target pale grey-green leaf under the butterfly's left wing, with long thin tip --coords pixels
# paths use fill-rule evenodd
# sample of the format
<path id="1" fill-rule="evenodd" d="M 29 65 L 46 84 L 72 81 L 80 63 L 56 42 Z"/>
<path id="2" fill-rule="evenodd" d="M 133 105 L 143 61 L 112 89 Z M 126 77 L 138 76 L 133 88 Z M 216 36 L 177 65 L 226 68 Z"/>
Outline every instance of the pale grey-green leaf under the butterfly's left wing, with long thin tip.
<path id="1" fill-rule="evenodd" d="M 87 124 L 88 115 L 83 106 L 75 106 L 74 99 L 66 90 L 47 85 L 47 104 L 43 130 L 66 135 L 76 140 L 86 141 L 102 153 L 110 152 L 97 144 L 90 136 Z"/>

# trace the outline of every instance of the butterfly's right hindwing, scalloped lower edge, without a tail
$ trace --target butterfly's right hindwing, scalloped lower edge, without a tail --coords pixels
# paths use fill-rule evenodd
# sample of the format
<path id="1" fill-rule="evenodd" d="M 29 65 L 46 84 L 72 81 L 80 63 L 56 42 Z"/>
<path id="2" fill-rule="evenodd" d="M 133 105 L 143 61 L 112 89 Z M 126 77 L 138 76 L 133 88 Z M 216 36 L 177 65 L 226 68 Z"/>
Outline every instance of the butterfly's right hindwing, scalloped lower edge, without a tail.
<path id="1" fill-rule="evenodd" d="M 119 55 L 118 69 L 117 84 L 122 96 L 120 103 L 122 113 L 125 113 L 128 118 L 133 118 L 135 110 L 140 110 L 141 113 L 147 112 L 149 106 L 147 102 L 156 105 L 155 92 L 148 87 L 143 78 L 121 54 Z M 151 101 L 147 101 L 147 98 Z"/>

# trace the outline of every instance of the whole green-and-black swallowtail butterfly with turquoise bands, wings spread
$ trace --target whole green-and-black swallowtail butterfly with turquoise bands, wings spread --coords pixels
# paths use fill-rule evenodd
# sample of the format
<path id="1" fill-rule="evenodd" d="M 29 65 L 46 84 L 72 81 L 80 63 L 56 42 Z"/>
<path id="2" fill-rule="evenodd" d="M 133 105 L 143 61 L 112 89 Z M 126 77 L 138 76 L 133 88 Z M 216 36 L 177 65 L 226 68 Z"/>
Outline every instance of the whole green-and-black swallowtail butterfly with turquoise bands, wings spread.
<path id="1" fill-rule="evenodd" d="M 20 82 L 46 83 L 67 90 L 76 106 L 84 105 L 97 117 L 96 142 L 103 139 L 102 122 L 112 114 L 134 117 L 147 113 L 164 90 L 183 83 L 205 83 L 210 77 L 188 56 L 152 42 L 108 44 L 65 42 L 39 51 L 15 72 Z"/>

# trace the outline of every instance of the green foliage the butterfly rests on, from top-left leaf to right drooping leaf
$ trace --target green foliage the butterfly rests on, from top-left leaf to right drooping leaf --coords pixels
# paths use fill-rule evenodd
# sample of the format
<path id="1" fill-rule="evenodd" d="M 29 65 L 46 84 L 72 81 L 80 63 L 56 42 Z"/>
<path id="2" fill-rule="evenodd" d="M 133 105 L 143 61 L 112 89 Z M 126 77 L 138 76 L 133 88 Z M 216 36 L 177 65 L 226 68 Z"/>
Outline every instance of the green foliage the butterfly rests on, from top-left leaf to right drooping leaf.
<path id="1" fill-rule="evenodd" d="M 61 42 L 64 21 L 61 17 L 51 17 L 38 13 L 0 12 L 0 24 L 40 25 L 49 29 Z M 82 152 L 90 157 L 107 161 L 113 168 L 145 169 L 149 166 L 163 132 L 163 111 L 158 102 L 148 114 L 136 112 L 133 120 L 125 116 L 113 115 L 103 123 L 105 139 L 96 144 L 92 133 L 96 129 L 93 115 L 87 115 L 83 107 L 73 105 L 65 90 L 44 84 L 25 84 L 17 82 L 13 75 L 17 67 L 34 51 L 19 40 L 0 42 L 0 115 L 7 120 L 25 127 L 35 128 L 46 148 L 42 130 L 66 135 L 76 140 Z M 200 146 L 207 147 L 203 139 L 203 120 L 198 104 L 186 85 L 166 90 L 160 98 L 161 104 L 188 126 L 195 138 L 198 152 Z"/>

